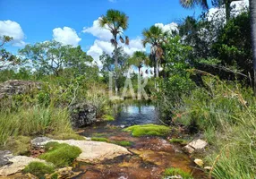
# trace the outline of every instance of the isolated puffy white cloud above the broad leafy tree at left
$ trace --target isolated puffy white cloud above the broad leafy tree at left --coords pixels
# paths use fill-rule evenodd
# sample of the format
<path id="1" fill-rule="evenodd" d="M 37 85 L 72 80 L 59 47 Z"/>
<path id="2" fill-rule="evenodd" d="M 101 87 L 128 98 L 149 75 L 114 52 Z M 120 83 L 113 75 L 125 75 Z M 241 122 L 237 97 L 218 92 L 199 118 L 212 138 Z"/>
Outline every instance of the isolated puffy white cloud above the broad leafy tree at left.
<path id="1" fill-rule="evenodd" d="M 81 41 L 76 31 L 69 27 L 64 27 L 63 29 L 55 28 L 53 30 L 53 38 L 64 45 L 72 45 L 74 47 L 78 46 Z"/>

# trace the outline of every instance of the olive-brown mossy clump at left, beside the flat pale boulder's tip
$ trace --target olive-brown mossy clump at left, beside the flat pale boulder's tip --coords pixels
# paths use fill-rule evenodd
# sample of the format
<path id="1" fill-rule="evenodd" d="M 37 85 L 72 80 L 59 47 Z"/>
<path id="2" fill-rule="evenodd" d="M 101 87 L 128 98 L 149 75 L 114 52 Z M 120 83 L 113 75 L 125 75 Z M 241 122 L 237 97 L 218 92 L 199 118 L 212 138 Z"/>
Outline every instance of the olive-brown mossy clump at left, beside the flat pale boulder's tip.
<path id="1" fill-rule="evenodd" d="M 9 137 L 4 149 L 11 150 L 14 155 L 28 155 L 30 153 L 31 138 L 27 136 Z"/>

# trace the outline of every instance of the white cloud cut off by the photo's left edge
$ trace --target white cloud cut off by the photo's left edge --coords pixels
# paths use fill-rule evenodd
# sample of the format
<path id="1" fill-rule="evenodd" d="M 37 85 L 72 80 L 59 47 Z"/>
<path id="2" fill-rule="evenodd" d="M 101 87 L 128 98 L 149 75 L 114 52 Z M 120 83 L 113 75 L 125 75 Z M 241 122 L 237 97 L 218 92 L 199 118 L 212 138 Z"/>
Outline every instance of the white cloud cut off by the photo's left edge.
<path id="1" fill-rule="evenodd" d="M 21 29 L 21 25 L 16 21 L 0 21 L 0 36 L 4 35 L 13 38 L 12 44 L 15 47 L 23 47 L 26 44 L 23 41 L 25 35 L 23 30 Z"/>

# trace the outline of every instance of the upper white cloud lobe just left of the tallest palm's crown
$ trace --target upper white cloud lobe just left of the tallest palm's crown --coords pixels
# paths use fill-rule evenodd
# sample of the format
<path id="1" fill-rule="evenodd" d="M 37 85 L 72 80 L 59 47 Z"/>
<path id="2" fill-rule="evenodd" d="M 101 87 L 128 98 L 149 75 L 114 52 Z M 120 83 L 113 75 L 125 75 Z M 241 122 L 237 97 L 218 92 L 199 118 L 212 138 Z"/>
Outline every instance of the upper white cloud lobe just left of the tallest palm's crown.
<path id="1" fill-rule="evenodd" d="M 99 23 L 98 23 L 99 19 L 100 17 L 98 18 L 98 20 L 93 21 L 93 24 L 91 27 L 84 27 L 82 32 L 90 33 L 94 37 L 97 37 L 102 40 L 110 40 L 112 38 L 112 34 L 110 33 L 109 30 L 106 30 L 99 26 Z"/>

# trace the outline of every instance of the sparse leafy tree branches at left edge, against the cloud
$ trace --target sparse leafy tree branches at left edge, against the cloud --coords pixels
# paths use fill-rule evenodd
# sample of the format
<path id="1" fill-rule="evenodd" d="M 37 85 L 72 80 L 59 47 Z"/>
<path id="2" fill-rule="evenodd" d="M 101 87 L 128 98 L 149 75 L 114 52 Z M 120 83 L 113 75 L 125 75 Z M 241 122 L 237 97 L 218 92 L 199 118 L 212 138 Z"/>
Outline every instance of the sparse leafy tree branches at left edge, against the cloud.
<path id="1" fill-rule="evenodd" d="M 13 66 L 15 64 L 21 64 L 21 59 L 16 55 L 7 52 L 4 48 L 4 45 L 8 42 L 11 42 L 13 38 L 9 36 L 0 37 L 0 70 L 8 66 Z"/>

